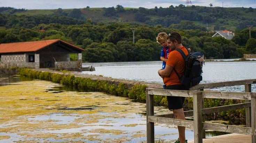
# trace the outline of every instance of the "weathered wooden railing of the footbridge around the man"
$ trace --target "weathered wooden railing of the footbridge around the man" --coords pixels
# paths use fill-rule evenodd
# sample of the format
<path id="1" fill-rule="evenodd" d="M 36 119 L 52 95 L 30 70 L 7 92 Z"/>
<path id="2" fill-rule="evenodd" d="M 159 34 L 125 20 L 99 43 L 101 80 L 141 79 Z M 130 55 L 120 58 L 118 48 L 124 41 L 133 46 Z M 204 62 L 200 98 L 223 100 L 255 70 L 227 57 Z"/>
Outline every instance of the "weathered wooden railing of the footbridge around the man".
<path id="1" fill-rule="evenodd" d="M 165 90 L 160 88 L 147 88 L 147 143 L 154 143 L 154 123 L 194 128 L 194 143 L 203 142 L 202 138 L 205 138 L 205 130 L 251 135 L 251 142 L 256 143 L 256 93 L 251 92 L 251 84 L 255 83 L 256 79 L 249 79 L 217 83 L 204 83 L 194 86 L 190 88 L 190 90 Z M 245 85 L 245 92 L 203 91 L 204 89 L 237 85 Z M 185 116 L 194 116 L 194 120 L 191 121 L 175 119 L 173 114 L 154 116 L 154 95 L 193 97 L 193 110 L 185 111 L 184 114 Z M 240 99 L 246 100 L 246 102 L 242 104 L 204 108 L 204 98 Z M 219 125 L 204 122 L 204 114 L 240 108 L 246 109 L 246 127 Z"/>

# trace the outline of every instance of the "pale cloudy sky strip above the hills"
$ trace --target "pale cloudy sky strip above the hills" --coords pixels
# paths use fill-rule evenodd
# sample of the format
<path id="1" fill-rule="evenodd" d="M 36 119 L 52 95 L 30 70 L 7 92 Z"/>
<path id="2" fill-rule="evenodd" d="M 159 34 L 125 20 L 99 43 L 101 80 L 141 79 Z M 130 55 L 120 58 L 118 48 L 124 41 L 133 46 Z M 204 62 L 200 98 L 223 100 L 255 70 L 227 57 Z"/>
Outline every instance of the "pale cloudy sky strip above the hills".
<path id="1" fill-rule="evenodd" d="M 69 9 L 95 7 L 115 7 L 122 5 L 130 8 L 154 8 L 169 7 L 170 5 L 185 5 L 186 0 L 0 0 L 0 7 L 14 7 L 25 9 Z M 252 7 L 256 8 L 256 0 L 191 0 L 196 6 L 209 6 L 213 3 L 214 7 Z"/>

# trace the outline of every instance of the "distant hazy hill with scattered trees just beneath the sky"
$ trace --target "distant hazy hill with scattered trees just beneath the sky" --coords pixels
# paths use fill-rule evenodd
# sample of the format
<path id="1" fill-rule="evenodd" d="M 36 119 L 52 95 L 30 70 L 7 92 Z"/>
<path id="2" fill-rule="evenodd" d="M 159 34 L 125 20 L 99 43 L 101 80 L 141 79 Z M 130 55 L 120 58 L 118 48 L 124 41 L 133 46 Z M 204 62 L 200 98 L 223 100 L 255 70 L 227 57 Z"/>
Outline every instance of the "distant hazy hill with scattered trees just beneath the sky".
<path id="1" fill-rule="evenodd" d="M 25 9 L 15 9 L 11 7 L 0 7 L 0 25 L 5 27 L 12 27 L 19 23 L 19 26 L 24 28 L 32 28 L 38 24 L 59 23 L 63 25 L 83 24 L 87 17 L 90 7 L 83 9 L 63 10 L 61 8 L 53 10 L 51 15 L 37 15 L 37 16 L 12 16 L 15 12 L 26 11 Z M 199 22 L 201 25 L 212 24 L 214 30 L 224 30 L 226 27 L 236 27 L 236 29 L 247 28 L 247 25 L 256 25 L 255 9 L 253 8 L 222 8 L 222 7 L 202 7 L 184 5 L 170 6 L 168 8 L 155 7 L 146 9 L 139 7 L 138 9 L 130 8 L 124 9 L 123 6 L 102 8 L 100 12 L 94 13 L 95 17 L 109 17 L 111 19 L 118 19 L 119 14 L 126 12 L 130 15 L 130 19 L 136 22 L 145 23 L 150 26 L 162 25 L 165 27 L 180 27 L 184 21 Z M 85 14 L 83 14 L 83 12 Z M 132 16 L 131 16 L 132 15 Z M 87 18 L 86 18 L 87 17 Z M 42 20 L 40 20 L 42 19 Z M 104 18 L 103 18 L 104 19 Z M 106 21 L 106 19 L 104 19 Z M 117 20 L 118 21 L 118 20 Z M 14 23 L 15 22 L 15 23 Z M 186 29 L 195 29 L 194 26 L 184 27 Z M 198 26 L 196 27 L 198 28 Z M 206 26 L 200 27 L 201 30 L 206 30 Z"/>

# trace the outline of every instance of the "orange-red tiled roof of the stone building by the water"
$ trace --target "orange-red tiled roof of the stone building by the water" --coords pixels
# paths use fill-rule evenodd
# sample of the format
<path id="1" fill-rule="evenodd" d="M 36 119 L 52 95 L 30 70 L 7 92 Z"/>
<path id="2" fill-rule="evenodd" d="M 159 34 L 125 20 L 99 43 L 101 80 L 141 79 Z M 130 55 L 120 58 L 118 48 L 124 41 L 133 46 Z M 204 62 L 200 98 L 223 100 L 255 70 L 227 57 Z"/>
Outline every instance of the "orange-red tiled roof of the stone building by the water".
<path id="1" fill-rule="evenodd" d="M 36 52 L 48 45 L 56 42 L 61 42 L 76 48 L 77 50 L 84 51 L 83 48 L 61 41 L 60 39 L 31 41 L 31 42 L 15 42 L 15 43 L 2 43 L 0 44 L 0 53 L 23 53 L 23 52 Z"/>

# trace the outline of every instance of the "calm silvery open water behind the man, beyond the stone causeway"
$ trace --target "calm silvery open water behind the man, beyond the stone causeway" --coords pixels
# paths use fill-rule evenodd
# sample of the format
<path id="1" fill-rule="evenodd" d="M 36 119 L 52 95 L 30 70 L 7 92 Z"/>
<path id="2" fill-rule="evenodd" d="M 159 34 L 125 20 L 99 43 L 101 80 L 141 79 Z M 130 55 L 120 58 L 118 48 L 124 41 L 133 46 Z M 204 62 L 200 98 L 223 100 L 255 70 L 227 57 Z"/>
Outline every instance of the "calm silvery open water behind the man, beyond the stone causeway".
<path id="1" fill-rule="evenodd" d="M 103 75 L 105 77 L 162 83 L 157 74 L 161 61 L 153 62 L 112 62 L 83 63 L 83 66 L 95 66 L 95 71 L 83 71 L 86 74 Z M 256 79 L 256 61 L 253 62 L 206 62 L 203 66 L 201 83 Z M 256 84 L 252 85 L 256 92 Z M 243 91 L 244 86 L 224 87 L 218 90 Z"/>

